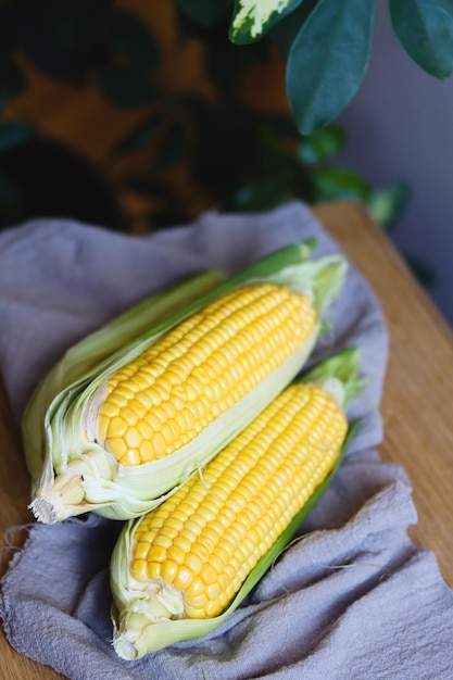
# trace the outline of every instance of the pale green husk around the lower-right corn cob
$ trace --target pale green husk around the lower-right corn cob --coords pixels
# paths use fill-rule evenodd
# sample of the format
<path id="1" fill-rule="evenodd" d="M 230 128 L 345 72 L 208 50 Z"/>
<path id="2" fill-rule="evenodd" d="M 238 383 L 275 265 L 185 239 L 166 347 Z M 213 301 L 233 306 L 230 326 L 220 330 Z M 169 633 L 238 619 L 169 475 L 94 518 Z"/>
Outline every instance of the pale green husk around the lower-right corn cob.
<path id="1" fill-rule="evenodd" d="M 349 399 L 355 395 L 364 385 L 364 380 L 358 378 L 358 351 L 351 348 L 326 360 L 313 372 L 306 373 L 300 380 L 318 383 L 331 393 L 340 407 L 345 411 Z M 146 583 L 134 578 L 130 570 L 135 552 L 135 539 L 133 537 L 141 519 L 126 522 L 111 559 L 111 590 L 113 594 L 111 615 L 114 627 L 113 645 L 117 655 L 127 660 L 135 660 L 176 642 L 201 638 L 225 621 L 288 545 L 303 519 L 330 484 L 357 425 L 357 421 L 350 424 L 341 454 L 334 468 L 315 489 L 269 551 L 261 557 L 228 608 L 219 616 L 206 619 L 172 619 L 167 609 L 166 617 L 161 614 L 156 618 L 154 614 L 156 608 L 164 612 L 166 605 L 172 607 L 172 602 L 166 602 L 165 595 L 149 594 L 146 590 Z"/>

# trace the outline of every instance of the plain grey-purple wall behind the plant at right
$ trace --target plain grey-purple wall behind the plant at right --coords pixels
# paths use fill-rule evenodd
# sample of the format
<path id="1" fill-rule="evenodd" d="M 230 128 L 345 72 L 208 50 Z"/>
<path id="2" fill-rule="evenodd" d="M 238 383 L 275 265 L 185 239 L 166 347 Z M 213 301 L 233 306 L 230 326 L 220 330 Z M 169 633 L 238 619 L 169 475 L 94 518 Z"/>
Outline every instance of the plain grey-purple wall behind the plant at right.
<path id="1" fill-rule="evenodd" d="M 453 78 L 425 74 L 393 36 L 387 2 L 376 2 L 369 72 L 341 116 L 341 162 L 375 185 L 407 180 L 410 204 L 391 238 L 437 272 L 428 289 L 453 325 Z"/>

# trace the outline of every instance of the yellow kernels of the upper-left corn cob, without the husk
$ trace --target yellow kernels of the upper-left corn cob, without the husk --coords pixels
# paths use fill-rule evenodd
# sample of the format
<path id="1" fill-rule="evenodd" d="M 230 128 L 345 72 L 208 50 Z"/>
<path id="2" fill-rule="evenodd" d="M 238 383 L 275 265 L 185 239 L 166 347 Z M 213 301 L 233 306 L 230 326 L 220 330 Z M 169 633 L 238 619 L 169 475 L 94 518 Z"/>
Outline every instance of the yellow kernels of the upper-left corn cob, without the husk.
<path id="1" fill-rule="evenodd" d="M 288 360 L 315 317 L 306 295 L 273 284 L 218 298 L 110 378 L 97 441 L 124 465 L 173 453 Z"/>

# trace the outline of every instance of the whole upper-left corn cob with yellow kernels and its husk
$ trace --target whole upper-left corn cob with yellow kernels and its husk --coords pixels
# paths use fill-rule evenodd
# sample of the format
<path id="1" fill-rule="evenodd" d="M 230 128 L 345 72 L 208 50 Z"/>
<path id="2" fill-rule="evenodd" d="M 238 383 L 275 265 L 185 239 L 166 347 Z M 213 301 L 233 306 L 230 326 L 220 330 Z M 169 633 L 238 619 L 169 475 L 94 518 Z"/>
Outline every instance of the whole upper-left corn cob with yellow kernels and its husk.
<path id="1" fill-rule="evenodd" d="M 344 260 L 305 262 L 312 247 L 252 265 L 73 382 L 56 367 L 63 389 L 45 380 L 24 419 L 36 517 L 139 516 L 238 435 L 304 364 L 342 285 Z"/>

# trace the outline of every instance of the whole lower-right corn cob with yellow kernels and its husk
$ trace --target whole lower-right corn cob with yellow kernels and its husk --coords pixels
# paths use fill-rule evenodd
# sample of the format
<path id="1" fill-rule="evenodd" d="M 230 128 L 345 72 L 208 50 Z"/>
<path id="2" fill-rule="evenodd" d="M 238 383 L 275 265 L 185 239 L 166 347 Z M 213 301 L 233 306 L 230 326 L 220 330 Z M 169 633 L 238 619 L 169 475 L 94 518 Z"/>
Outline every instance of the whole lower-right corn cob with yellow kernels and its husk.
<path id="1" fill-rule="evenodd" d="M 204 634 L 238 605 L 242 584 L 281 550 L 338 464 L 356 368 L 357 352 L 348 351 L 317 368 L 314 377 L 330 374 L 328 381 L 309 374 L 307 382 L 289 386 L 200 476 L 128 524 L 111 570 L 119 656 Z"/>

